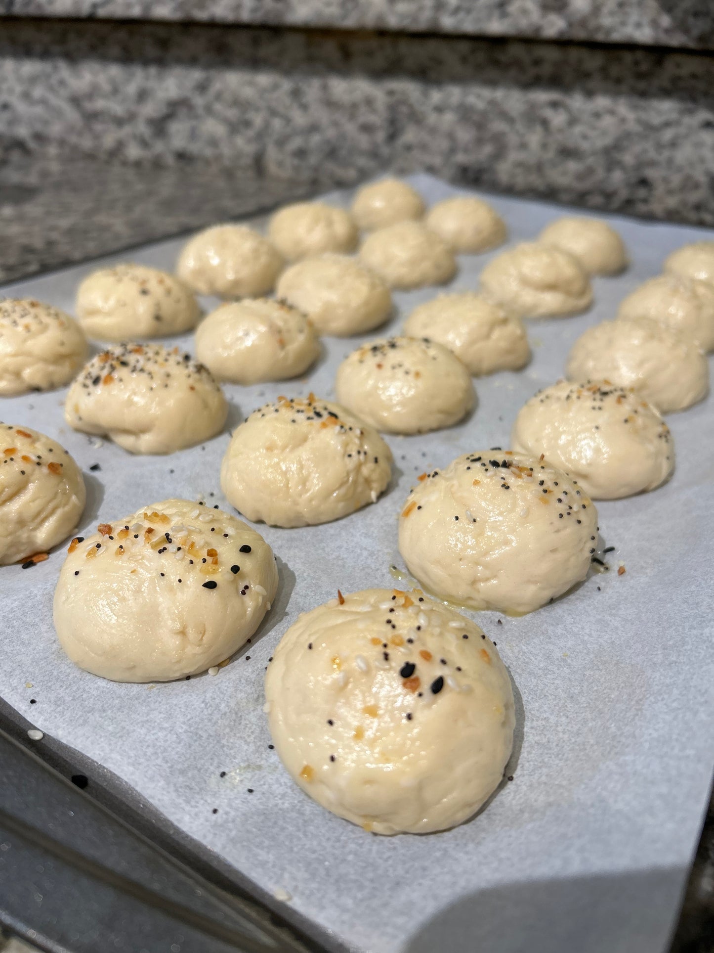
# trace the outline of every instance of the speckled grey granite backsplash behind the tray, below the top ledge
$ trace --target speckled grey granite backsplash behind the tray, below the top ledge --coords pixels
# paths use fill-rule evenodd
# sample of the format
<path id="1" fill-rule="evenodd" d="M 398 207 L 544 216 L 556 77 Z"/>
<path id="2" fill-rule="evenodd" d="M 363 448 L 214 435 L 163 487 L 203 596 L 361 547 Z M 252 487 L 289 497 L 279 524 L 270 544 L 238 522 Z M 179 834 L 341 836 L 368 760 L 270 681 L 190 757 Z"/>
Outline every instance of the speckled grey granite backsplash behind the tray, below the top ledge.
<path id="1" fill-rule="evenodd" d="M 0 175 L 58 152 L 348 183 L 424 169 L 714 224 L 714 58 L 567 44 L 5 21 Z"/>

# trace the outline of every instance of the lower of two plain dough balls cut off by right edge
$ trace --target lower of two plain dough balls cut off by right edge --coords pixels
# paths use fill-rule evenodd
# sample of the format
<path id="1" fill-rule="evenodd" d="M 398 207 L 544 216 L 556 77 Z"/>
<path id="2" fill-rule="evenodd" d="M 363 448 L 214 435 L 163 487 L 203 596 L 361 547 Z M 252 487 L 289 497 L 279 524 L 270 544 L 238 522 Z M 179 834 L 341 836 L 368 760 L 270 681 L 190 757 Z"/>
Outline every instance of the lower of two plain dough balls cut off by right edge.
<path id="1" fill-rule="evenodd" d="M 622 318 L 646 317 L 714 351 L 714 285 L 681 274 L 659 274 L 621 302 Z"/>

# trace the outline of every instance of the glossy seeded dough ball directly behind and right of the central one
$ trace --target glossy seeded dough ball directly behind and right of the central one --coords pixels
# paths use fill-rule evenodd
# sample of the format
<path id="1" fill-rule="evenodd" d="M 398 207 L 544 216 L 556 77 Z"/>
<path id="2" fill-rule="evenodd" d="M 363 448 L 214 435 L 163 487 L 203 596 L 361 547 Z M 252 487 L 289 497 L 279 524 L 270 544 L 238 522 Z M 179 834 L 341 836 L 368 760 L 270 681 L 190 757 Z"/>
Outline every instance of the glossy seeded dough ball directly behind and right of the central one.
<path id="1" fill-rule="evenodd" d="M 335 393 L 352 413 L 391 434 L 450 427 L 476 403 L 459 358 L 414 337 L 380 338 L 347 355 L 337 369 Z"/>

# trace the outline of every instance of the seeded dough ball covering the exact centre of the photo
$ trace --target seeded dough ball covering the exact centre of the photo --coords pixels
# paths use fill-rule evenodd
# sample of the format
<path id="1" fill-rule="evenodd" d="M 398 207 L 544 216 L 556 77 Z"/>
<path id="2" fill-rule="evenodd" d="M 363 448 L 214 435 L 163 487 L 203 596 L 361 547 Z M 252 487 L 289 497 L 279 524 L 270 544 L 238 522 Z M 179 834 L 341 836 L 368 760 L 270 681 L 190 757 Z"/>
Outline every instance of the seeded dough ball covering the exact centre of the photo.
<path id="1" fill-rule="evenodd" d="M 339 404 L 278 397 L 233 432 L 221 488 L 253 522 L 311 526 L 376 502 L 391 462 L 382 437 Z"/>

